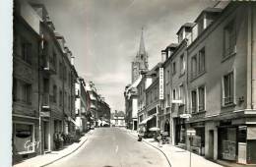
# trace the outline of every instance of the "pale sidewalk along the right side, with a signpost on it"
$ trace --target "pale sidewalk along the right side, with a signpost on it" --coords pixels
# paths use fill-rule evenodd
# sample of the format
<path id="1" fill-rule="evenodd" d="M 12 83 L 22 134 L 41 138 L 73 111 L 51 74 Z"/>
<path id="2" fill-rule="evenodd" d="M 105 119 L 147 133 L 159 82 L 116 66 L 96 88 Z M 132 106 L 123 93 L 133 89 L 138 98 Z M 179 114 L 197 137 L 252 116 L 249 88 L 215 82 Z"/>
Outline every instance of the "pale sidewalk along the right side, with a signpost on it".
<path id="1" fill-rule="evenodd" d="M 128 133 L 138 138 L 136 131 L 126 130 Z M 143 139 L 143 141 L 148 144 L 160 149 L 160 151 L 168 159 L 171 167 L 189 167 L 189 155 L 190 152 L 179 147 L 173 146 L 171 144 L 162 144 L 160 146 L 159 142 L 154 141 L 154 139 Z M 191 166 L 192 167 L 222 167 L 217 163 L 205 159 L 205 157 L 191 153 Z"/>

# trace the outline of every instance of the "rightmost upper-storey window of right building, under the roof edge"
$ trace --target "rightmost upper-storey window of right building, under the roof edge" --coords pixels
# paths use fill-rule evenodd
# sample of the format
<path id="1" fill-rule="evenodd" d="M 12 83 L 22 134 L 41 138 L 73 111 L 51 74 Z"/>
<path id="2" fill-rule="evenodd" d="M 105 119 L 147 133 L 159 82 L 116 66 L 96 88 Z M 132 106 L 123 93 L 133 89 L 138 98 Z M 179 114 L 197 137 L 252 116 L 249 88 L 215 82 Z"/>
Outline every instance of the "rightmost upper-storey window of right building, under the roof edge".
<path id="1" fill-rule="evenodd" d="M 224 28 L 224 57 L 235 52 L 235 42 L 235 24 L 232 21 Z"/>

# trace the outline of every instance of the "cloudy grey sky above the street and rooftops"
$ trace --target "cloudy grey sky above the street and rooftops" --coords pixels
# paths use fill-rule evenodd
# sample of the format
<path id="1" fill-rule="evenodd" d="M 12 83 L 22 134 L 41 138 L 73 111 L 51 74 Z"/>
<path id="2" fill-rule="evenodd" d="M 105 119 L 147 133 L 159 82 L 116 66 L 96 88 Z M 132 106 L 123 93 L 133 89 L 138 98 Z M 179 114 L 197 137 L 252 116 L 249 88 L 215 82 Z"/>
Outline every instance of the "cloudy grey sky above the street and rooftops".
<path id="1" fill-rule="evenodd" d="M 131 62 L 144 28 L 149 68 L 160 50 L 177 42 L 177 30 L 213 7 L 210 0 L 32 0 L 43 3 L 56 31 L 72 51 L 85 81 L 96 84 L 111 110 L 124 111 L 124 88 L 131 83 Z"/>

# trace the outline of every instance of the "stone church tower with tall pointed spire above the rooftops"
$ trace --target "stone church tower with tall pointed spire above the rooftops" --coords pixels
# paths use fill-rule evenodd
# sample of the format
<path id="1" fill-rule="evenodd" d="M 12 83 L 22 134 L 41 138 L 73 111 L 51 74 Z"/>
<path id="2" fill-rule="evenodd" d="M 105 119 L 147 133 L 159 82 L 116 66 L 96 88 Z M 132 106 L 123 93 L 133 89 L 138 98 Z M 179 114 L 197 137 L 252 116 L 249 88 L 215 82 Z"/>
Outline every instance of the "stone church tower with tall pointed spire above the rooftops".
<path id="1" fill-rule="evenodd" d="M 132 62 L 132 83 L 134 83 L 139 78 L 141 72 L 148 71 L 148 69 L 149 69 L 148 53 L 146 52 L 146 49 L 145 49 L 143 28 L 142 28 L 139 51 L 137 52 L 137 55 Z"/>

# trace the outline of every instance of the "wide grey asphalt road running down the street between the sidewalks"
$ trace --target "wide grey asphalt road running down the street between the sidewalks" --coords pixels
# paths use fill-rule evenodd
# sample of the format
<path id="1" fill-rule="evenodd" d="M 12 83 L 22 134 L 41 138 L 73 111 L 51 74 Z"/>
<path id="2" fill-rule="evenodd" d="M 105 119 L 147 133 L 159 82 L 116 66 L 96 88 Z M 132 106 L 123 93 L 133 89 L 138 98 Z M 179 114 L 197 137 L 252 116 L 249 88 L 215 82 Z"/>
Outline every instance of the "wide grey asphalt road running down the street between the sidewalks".
<path id="1" fill-rule="evenodd" d="M 118 128 L 98 128 L 70 156 L 49 167 L 168 167 L 160 151 Z"/>

